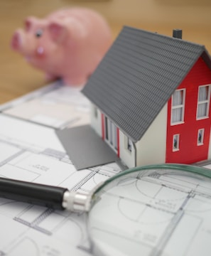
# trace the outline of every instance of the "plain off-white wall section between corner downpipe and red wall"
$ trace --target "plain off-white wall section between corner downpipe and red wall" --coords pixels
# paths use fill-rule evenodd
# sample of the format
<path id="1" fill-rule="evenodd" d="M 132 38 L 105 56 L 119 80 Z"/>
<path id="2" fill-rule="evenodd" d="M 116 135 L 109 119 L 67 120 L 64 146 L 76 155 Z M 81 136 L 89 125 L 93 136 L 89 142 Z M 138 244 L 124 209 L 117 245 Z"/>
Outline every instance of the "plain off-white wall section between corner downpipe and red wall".
<path id="1" fill-rule="evenodd" d="M 136 143 L 136 166 L 166 162 L 167 104 Z"/>

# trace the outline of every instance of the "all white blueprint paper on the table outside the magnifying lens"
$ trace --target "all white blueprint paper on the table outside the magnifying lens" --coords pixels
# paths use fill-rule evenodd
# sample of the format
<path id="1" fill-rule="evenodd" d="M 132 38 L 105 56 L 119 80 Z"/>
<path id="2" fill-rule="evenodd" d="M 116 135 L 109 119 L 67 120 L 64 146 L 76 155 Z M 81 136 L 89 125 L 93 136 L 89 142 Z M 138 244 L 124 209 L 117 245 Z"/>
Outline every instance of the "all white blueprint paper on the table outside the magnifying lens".
<path id="1" fill-rule="evenodd" d="M 114 163 L 76 171 L 56 136 L 58 127 L 89 122 L 79 88 L 53 83 L 0 111 L 1 177 L 90 191 L 121 171 Z M 1 256 L 90 255 L 85 215 L 0 198 L 0 227 Z"/>

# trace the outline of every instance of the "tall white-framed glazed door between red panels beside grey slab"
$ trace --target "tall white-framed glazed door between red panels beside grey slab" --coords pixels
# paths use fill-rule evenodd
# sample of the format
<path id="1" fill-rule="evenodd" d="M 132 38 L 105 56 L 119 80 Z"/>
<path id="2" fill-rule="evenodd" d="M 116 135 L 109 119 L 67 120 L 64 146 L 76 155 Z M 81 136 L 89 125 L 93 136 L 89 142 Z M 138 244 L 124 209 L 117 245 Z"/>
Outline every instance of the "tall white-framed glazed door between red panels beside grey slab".
<path id="1" fill-rule="evenodd" d="M 110 146 L 112 146 L 113 149 L 115 149 L 115 151 L 117 151 L 117 147 L 118 147 L 117 127 L 107 117 L 104 117 L 104 131 L 105 131 L 106 141 L 110 144 Z"/>

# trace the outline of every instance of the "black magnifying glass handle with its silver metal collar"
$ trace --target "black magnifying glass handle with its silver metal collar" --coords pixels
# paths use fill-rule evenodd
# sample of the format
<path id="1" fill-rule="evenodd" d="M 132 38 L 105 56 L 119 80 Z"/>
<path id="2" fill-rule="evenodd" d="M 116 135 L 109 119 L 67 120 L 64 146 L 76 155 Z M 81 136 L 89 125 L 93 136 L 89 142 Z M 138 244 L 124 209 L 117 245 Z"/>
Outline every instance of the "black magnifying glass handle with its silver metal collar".
<path id="1" fill-rule="evenodd" d="M 0 197 L 58 210 L 87 211 L 90 196 L 67 188 L 0 178 Z"/>

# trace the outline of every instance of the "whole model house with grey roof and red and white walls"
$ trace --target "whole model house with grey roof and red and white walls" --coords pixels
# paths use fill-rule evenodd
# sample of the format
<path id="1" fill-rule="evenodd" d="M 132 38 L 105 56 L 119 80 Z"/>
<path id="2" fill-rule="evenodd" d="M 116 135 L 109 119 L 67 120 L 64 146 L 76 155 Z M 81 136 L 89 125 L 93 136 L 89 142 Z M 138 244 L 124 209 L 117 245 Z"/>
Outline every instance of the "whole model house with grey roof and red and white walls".
<path id="1" fill-rule="evenodd" d="M 82 90 L 92 128 L 129 167 L 211 159 L 210 55 L 173 35 L 124 27 Z"/>

